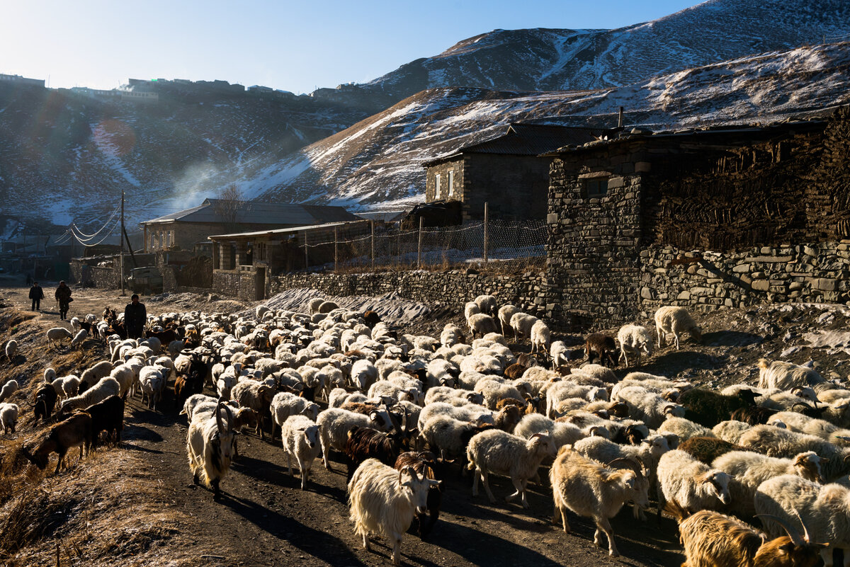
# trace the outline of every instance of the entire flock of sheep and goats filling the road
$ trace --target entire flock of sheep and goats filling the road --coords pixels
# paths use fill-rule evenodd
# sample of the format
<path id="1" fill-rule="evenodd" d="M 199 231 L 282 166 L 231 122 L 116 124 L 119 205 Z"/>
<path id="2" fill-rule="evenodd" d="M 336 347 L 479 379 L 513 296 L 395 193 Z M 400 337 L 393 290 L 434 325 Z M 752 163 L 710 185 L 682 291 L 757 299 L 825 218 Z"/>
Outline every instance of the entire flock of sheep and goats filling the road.
<path id="1" fill-rule="evenodd" d="M 629 503 L 645 519 L 653 500 L 659 517 L 666 509 L 679 521 L 683 565 L 823 559 L 831 567 L 836 548 L 850 565 L 850 390 L 813 368 L 764 359 L 757 387 L 717 392 L 640 372 L 618 381 L 609 366 L 651 356 L 647 328 L 621 328 L 619 346 L 592 334 L 582 353 L 552 342 L 536 317 L 496 309 L 491 295 L 467 303 L 465 317 L 471 344 L 454 324 L 439 339 L 399 334 L 375 312 L 323 300 L 309 313 L 164 313 L 149 317 L 144 340 L 111 334 L 120 321 L 75 318 L 79 334 L 108 341 L 111 360 L 79 376 L 45 371 L 34 412 L 48 420 L 59 398 L 53 419 L 61 421 L 23 451 L 40 469 L 57 452 L 59 472 L 66 452 L 79 446 L 82 458 L 101 432 L 120 443 L 126 396 L 154 409 L 173 383 L 196 484 L 221 497 L 243 428 L 261 439 L 280 432 L 302 489 L 314 459 L 331 469 L 331 451 L 341 452 L 354 530 L 367 549 L 370 534 L 392 542 L 394 564 L 414 519 L 422 537 L 437 521 L 439 476 L 473 470 L 473 496 L 480 481 L 490 502 L 488 475 L 507 477 L 515 491 L 505 500 L 528 508 L 526 486 L 545 486 L 539 469 L 548 459 L 555 521 L 569 533 L 569 512 L 591 518 L 596 544 L 607 538 L 612 556 L 609 519 Z M 668 334 L 677 349 L 683 333 L 701 340 L 682 307 L 660 308 L 655 326 L 659 346 Z M 48 340 L 67 336 L 62 330 L 50 329 Z M 530 340 L 531 352 L 515 356 L 506 334 Z M 17 413 L 0 404 L 4 428 L 14 431 Z M 747 523 L 756 519 L 763 531 Z"/>

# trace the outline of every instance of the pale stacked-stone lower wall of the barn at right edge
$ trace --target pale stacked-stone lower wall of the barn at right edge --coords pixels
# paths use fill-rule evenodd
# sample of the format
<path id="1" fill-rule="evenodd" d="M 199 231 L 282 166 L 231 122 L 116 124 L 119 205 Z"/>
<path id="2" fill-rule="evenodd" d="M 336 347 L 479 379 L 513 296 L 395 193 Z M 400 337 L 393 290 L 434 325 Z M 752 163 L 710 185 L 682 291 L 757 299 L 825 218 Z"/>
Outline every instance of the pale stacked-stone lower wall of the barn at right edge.
<path id="1" fill-rule="evenodd" d="M 641 250 L 640 261 L 642 317 L 661 305 L 707 312 L 720 306 L 850 300 L 850 240 L 727 253 L 654 246 Z"/>

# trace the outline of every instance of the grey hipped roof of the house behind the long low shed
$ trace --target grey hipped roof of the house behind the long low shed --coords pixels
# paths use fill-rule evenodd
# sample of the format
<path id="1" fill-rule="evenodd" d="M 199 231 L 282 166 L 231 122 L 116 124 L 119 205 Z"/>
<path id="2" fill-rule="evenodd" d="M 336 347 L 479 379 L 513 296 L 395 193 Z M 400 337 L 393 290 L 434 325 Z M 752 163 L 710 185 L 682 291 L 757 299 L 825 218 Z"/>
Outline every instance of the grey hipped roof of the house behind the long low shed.
<path id="1" fill-rule="evenodd" d="M 205 199 L 201 205 L 159 216 L 143 224 L 154 222 L 225 222 L 218 208 L 222 199 Z M 356 221 L 357 216 L 343 207 L 326 205 L 295 205 L 290 203 L 261 203 L 243 201 L 236 211 L 236 224 L 309 225 L 321 222 Z"/>

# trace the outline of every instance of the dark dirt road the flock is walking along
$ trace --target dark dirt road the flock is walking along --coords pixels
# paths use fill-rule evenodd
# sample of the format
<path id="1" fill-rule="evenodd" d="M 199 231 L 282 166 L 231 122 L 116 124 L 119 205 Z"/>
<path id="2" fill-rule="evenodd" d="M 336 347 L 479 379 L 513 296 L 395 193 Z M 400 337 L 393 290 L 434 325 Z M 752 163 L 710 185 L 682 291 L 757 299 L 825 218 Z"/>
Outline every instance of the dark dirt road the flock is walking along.
<path id="1" fill-rule="evenodd" d="M 0 294 L 15 306 L 29 306 L 26 289 L 0 289 Z M 52 296 L 52 289 L 45 286 L 45 295 Z M 74 296 L 77 300 L 71 316 L 99 313 L 107 304 L 117 308 L 126 301 L 114 291 L 75 290 Z M 168 301 L 147 305 L 150 314 L 189 308 Z M 49 311 L 37 316 L 42 328 L 59 323 L 58 313 Z M 139 564 L 167 564 L 165 559 L 173 556 L 194 558 L 195 564 L 227 566 L 388 564 L 391 549 L 386 541 L 373 539 L 370 553 L 354 535 L 341 463 L 335 464 L 332 473 L 319 461 L 314 463 L 312 482 L 307 491 L 301 491 L 297 476 L 293 479 L 286 474 L 280 441 L 272 444 L 252 434 L 241 435 L 242 456 L 222 483 L 223 501 L 216 503 L 209 491 L 191 484 L 185 456 L 186 422 L 175 411 L 170 395 L 156 412 L 141 406 L 138 399 L 128 401 L 126 416 L 122 451 L 144 457 L 149 467 L 146 475 L 161 485 L 157 501 L 167 502 L 182 518 L 180 536 L 162 542 L 163 562 Z M 89 465 L 83 460 L 80 466 Z M 541 470 L 541 476 L 546 477 L 546 472 Z M 613 522 L 623 557 L 609 559 L 605 551 L 593 545 L 593 527 L 587 519 L 570 516 L 572 535 L 551 523 L 552 498 L 546 486 L 530 488 L 531 509 L 526 511 L 519 504 L 490 506 L 483 492 L 473 498 L 472 477 L 459 476 L 457 469 L 446 471 L 444 480 L 444 505 L 431 542 L 406 535 L 402 543 L 404 564 L 672 567 L 682 562 L 671 520 L 665 519 L 661 525 L 655 519 L 638 522 L 632 519 L 631 510 L 624 510 Z M 497 498 L 513 491 L 507 479 L 491 482 Z M 116 513 L 133 514 L 133 510 Z"/>

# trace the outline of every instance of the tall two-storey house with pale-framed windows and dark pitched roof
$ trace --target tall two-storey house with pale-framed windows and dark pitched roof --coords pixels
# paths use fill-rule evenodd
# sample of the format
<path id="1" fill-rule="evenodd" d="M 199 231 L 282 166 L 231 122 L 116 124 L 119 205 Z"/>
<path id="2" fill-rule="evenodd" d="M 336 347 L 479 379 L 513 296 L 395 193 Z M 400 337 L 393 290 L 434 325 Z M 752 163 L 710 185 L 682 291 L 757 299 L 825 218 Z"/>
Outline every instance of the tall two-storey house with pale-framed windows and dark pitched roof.
<path id="1" fill-rule="evenodd" d="M 542 219 L 547 212 L 549 159 L 541 154 L 598 138 L 602 130 L 510 124 L 497 138 L 425 162 L 425 201 L 462 201 L 462 221 L 484 217 Z"/>

